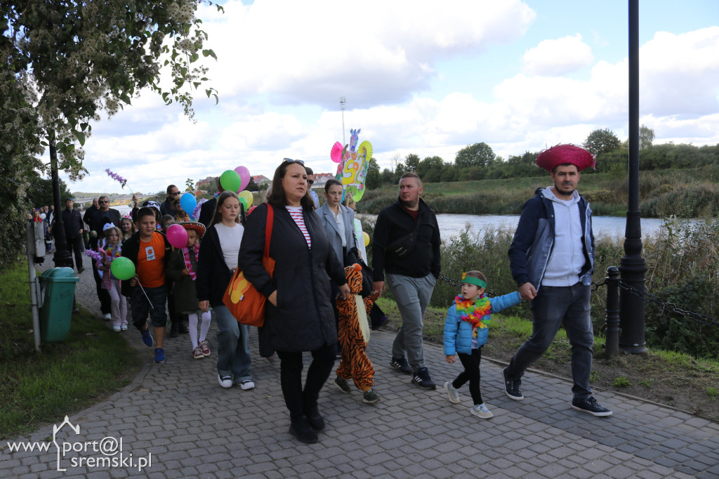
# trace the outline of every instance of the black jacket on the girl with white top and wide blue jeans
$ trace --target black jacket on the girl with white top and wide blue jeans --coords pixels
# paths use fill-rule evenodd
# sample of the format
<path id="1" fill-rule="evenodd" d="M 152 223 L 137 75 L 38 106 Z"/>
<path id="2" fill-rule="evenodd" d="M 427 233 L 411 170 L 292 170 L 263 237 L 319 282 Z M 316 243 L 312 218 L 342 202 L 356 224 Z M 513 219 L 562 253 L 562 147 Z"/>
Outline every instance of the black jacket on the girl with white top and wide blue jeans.
<path id="1" fill-rule="evenodd" d="M 210 301 L 213 307 L 222 306 L 222 297 L 231 279 L 232 273 L 224 262 L 217 229 L 208 228 L 200 242 L 200 260 L 195 281 L 197 301 Z"/>

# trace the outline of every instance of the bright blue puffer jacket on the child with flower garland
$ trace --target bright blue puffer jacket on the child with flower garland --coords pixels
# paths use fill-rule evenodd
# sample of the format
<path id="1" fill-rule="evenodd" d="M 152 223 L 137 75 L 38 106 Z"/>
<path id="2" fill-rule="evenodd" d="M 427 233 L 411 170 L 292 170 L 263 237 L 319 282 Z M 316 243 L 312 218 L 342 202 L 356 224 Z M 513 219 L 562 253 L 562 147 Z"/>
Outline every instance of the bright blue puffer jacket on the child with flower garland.
<path id="1" fill-rule="evenodd" d="M 518 291 L 490 298 L 492 305 L 490 311 L 498 313 L 519 304 L 519 301 L 521 298 Z M 491 319 L 492 315 L 489 314 L 482 319 L 482 323 L 487 324 Z M 489 327 L 477 328 L 477 347 L 485 345 L 489 334 Z M 447 317 L 444 320 L 444 355 L 453 356 L 457 352 L 465 355 L 472 354 L 472 324 L 462 321 L 462 317 L 457 312 L 457 304 L 453 304 L 447 311 Z"/>

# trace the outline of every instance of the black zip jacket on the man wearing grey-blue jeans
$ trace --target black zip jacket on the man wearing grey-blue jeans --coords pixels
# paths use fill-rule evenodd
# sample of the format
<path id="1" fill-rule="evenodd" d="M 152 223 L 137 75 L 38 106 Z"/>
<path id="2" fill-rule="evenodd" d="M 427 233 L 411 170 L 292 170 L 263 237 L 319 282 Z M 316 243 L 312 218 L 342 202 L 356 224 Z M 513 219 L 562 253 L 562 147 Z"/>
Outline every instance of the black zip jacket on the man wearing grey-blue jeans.
<path id="1" fill-rule="evenodd" d="M 434 211 L 419 200 L 417 221 L 421 222 L 417 240 L 408 257 L 398 258 L 385 254 L 385 248 L 396 239 L 413 232 L 416 223 L 411 214 L 402 209 L 400 200 L 380 211 L 372 237 L 372 267 L 374 280 L 384 281 L 385 271 L 395 275 L 423 278 L 432 273 L 439 278 L 439 226 Z"/>

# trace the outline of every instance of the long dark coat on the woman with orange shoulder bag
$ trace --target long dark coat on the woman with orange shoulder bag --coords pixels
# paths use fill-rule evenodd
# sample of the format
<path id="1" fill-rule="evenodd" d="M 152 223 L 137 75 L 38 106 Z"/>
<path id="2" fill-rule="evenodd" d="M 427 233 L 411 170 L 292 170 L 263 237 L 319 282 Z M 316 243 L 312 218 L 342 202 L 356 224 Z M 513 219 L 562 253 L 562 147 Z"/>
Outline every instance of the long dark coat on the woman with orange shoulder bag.
<path id="1" fill-rule="evenodd" d="M 344 269 L 332 251 L 324 227 L 313 211 L 304 212 L 312 249 L 285 208 L 275 208 L 270 257 L 275 274 L 262 267 L 265 250 L 267 204 L 247 216 L 238 264 L 257 291 L 277 291 L 277 306 L 267 301 L 260 351 L 313 351 L 337 342 L 329 277 L 339 286 L 347 283 Z M 202 261 L 202 255 L 200 255 Z"/>

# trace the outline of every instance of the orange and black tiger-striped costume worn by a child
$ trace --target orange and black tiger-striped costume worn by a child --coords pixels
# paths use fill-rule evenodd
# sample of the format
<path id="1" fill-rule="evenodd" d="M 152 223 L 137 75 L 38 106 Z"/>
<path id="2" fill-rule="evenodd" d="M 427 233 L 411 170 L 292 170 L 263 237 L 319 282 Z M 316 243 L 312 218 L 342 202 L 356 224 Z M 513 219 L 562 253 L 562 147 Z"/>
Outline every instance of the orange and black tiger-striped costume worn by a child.
<path id="1" fill-rule="evenodd" d="M 337 368 L 337 377 L 344 380 L 352 378 L 354 386 L 364 391 L 363 387 L 366 389 L 375 385 L 373 379 L 375 369 L 372 368 L 372 362 L 365 354 L 367 343 L 365 343 L 365 334 L 359 324 L 357 302 L 354 299 L 354 295 L 362 291 L 362 267 L 357 264 L 347 266 L 344 268 L 344 275 L 347 277 L 347 286 L 352 294 L 347 296 L 347 299 L 337 297 L 339 344 L 342 345 L 342 359 Z M 367 314 L 375 304 L 375 299 L 377 296 L 372 295 L 362 300 Z"/>

